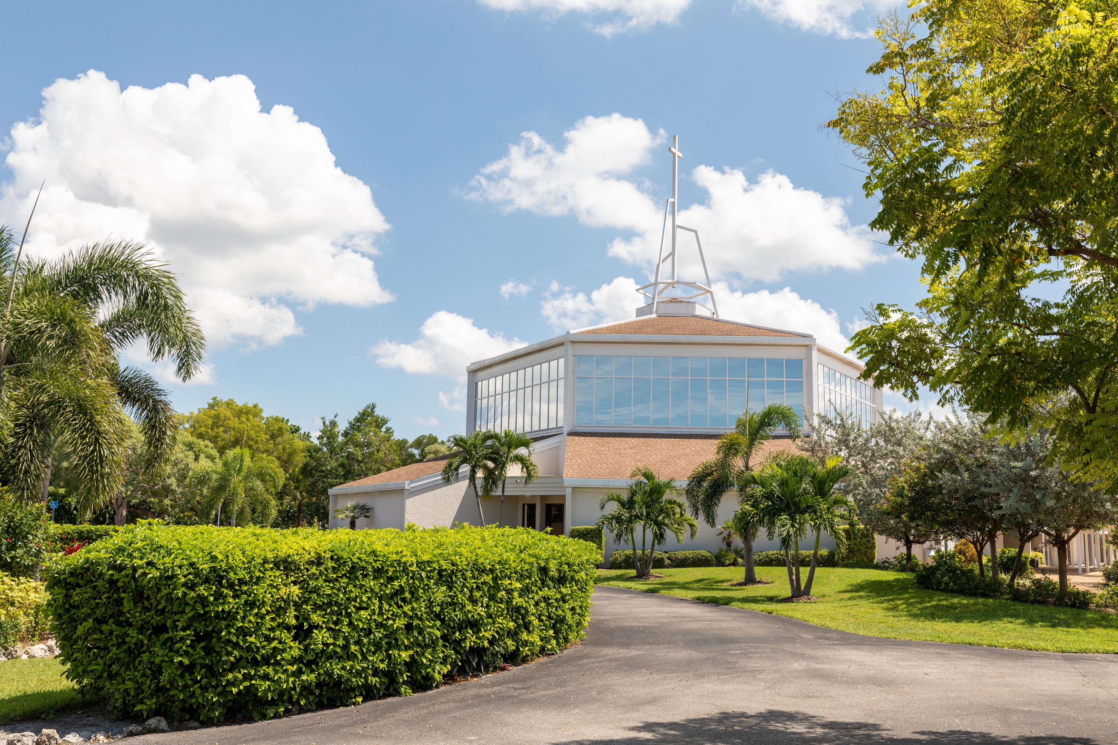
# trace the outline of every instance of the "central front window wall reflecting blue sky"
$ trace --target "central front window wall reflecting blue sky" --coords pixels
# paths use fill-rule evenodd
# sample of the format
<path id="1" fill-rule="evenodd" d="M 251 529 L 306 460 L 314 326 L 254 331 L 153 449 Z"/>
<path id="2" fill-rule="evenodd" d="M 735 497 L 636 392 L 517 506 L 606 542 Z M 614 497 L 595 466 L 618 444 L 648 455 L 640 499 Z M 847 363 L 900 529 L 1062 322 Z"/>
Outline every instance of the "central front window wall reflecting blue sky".
<path id="1" fill-rule="evenodd" d="M 576 426 L 733 427 L 745 411 L 787 403 L 804 416 L 804 361 L 575 357 Z"/>

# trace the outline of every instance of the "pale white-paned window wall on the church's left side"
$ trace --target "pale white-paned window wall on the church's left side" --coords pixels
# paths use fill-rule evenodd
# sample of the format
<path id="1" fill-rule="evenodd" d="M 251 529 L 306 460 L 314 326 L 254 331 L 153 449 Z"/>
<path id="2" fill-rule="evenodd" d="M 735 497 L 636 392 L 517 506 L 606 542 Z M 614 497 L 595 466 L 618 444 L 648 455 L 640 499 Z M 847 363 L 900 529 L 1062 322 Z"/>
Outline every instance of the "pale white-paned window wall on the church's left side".
<path id="1" fill-rule="evenodd" d="M 474 383 L 474 427 L 536 432 L 562 427 L 563 360 Z"/>

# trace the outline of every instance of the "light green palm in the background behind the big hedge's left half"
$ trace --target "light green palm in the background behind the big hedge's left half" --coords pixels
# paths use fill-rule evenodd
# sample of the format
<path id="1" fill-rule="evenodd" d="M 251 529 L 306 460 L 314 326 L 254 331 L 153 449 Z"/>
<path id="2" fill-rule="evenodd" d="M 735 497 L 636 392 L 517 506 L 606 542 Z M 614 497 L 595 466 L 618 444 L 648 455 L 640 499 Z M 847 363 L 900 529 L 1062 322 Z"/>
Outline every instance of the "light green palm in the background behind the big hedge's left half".
<path id="1" fill-rule="evenodd" d="M 200 513 L 207 517 L 216 513 L 218 525 L 224 509 L 229 525 L 268 526 L 275 517 L 275 494 L 283 480 L 283 469 L 275 459 L 253 458 L 247 448 L 234 448 L 221 456 L 221 462 L 196 469 L 187 486 L 201 494 Z"/>

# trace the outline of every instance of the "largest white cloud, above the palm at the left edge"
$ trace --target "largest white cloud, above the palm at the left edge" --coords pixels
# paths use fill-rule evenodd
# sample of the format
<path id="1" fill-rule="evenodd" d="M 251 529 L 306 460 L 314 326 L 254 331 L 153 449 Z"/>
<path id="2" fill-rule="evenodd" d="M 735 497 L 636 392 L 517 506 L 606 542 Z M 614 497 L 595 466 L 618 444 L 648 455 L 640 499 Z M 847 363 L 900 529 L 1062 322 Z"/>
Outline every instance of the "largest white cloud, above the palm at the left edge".
<path id="1" fill-rule="evenodd" d="M 260 111 L 235 75 L 121 90 L 89 70 L 44 90 L 11 130 L 0 216 L 32 255 L 105 238 L 146 242 L 180 276 L 208 343 L 276 344 L 294 307 L 387 303 L 371 256 L 388 230 L 369 188 L 290 106 Z"/>

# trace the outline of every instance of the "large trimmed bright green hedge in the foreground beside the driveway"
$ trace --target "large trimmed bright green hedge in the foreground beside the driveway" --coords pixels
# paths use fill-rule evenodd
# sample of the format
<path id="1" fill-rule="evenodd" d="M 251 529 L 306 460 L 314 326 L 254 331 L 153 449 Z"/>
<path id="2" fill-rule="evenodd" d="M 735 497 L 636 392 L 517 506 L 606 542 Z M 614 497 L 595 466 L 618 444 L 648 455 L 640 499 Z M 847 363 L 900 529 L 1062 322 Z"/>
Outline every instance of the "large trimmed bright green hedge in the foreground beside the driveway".
<path id="1" fill-rule="evenodd" d="M 558 652 L 597 552 L 517 528 L 138 524 L 51 562 L 67 677 L 111 710 L 268 718 L 433 688 Z"/>

